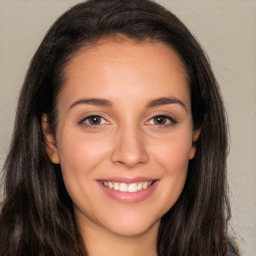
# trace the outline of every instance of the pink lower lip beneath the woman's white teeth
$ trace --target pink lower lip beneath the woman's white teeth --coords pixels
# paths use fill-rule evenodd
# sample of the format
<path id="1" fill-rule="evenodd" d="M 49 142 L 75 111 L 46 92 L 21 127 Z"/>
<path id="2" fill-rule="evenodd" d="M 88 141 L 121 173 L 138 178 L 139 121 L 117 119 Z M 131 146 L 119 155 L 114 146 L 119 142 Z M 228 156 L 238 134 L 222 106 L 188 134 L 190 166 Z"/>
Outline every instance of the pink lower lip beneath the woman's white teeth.
<path id="1" fill-rule="evenodd" d="M 158 181 L 155 181 L 151 186 L 137 192 L 121 192 L 118 190 L 110 189 L 99 182 L 103 192 L 114 200 L 125 203 L 138 203 L 146 200 L 153 193 L 157 187 Z"/>

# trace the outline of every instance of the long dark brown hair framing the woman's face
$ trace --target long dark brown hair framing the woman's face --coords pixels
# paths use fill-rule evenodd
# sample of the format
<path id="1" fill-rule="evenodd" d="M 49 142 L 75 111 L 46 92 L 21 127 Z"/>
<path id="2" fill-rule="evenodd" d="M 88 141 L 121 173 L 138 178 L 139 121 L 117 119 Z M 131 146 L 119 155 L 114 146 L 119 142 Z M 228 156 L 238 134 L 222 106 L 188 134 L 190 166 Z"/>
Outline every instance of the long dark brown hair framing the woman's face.
<path id="1" fill-rule="evenodd" d="M 47 113 L 55 127 L 63 70 L 72 56 L 81 47 L 114 35 L 163 42 L 178 53 L 189 77 L 194 127 L 201 128 L 184 190 L 161 219 L 158 255 L 225 255 L 230 218 L 228 140 L 219 88 L 204 51 L 189 30 L 175 15 L 149 0 L 78 4 L 43 39 L 20 93 L 3 168 L 0 255 L 86 255 L 60 166 L 52 164 L 46 153 L 41 117 Z"/>

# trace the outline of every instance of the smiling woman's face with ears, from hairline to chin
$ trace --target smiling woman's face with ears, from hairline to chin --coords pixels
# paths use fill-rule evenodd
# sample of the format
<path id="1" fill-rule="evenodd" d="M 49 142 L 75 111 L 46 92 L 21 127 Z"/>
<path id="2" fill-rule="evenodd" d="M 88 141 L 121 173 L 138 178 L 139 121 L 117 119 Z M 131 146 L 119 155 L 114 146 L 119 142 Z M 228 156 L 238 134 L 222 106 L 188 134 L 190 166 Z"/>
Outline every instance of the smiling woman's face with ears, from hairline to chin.
<path id="1" fill-rule="evenodd" d="M 72 58 L 56 137 L 45 134 L 81 230 L 157 232 L 195 154 L 190 105 L 184 66 L 163 43 L 109 39 Z"/>

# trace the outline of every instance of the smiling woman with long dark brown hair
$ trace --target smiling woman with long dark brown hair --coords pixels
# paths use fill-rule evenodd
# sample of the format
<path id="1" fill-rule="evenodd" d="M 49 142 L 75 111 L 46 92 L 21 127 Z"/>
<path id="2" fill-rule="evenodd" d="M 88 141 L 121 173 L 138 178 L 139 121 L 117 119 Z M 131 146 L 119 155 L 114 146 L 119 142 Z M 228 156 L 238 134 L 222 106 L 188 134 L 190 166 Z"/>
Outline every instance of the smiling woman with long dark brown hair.
<path id="1" fill-rule="evenodd" d="M 36 52 L 17 109 L 4 255 L 235 255 L 227 128 L 205 54 L 147 0 L 90 0 Z"/>

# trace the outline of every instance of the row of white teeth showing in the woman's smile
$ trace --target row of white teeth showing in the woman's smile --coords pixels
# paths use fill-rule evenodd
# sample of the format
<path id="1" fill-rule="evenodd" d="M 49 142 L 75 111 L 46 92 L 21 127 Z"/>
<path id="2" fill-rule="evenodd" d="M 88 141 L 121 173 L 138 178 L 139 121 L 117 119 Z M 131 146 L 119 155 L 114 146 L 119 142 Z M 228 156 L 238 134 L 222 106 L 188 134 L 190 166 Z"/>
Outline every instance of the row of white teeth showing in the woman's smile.
<path id="1" fill-rule="evenodd" d="M 102 184 L 112 190 L 120 192 L 138 192 L 145 190 L 152 186 L 156 181 L 143 181 L 143 182 L 134 182 L 134 183 L 124 183 L 124 182 L 114 182 L 114 181 L 102 181 Z"/>

